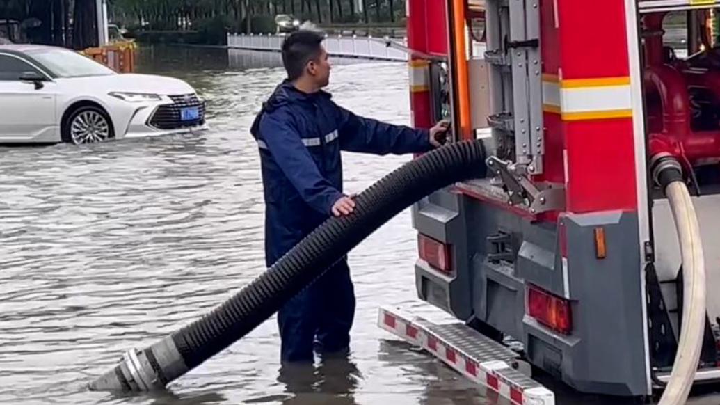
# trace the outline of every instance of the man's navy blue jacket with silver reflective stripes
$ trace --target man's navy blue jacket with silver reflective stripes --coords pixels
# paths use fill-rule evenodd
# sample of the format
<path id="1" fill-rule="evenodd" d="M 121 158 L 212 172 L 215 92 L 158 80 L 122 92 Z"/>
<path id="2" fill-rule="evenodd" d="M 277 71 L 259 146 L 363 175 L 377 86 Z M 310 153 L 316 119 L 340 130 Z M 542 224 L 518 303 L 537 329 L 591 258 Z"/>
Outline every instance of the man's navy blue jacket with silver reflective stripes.
<path id="1" fill-rule="evenodd" d="M 341 150 L 423 153 L 428 130 L 354 115 L 327 92 L 306 94 L 289 81 L 263 104 L 251 134 L 260 149 L 268 267 L 332 215 L 343 197 Z"/>

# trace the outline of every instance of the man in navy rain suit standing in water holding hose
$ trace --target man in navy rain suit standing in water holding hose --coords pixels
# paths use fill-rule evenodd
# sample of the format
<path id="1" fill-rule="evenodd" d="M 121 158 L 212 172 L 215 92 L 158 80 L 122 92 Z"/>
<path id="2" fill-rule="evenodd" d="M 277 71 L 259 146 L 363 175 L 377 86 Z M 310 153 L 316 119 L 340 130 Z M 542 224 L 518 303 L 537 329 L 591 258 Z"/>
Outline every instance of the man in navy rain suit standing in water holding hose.
<path id="1" fill-rule="evenodd" d="M 261 156 L 266 202 L 265 256 L 271 266 L 330 215 L 350 215 L 343 194 L 341 151 L 422 153 L 441 145 L 446 124 L 415 130 L 359 117 L 323 87 L 330 79 L 323 35 L 301 30 L 282 45 L 287 79 L 263 104 L 251 133 Z M 355 313 L 346 260 L 278 313 L 282 362 L 311 362 L 313 349 L 344 353 Z"/>

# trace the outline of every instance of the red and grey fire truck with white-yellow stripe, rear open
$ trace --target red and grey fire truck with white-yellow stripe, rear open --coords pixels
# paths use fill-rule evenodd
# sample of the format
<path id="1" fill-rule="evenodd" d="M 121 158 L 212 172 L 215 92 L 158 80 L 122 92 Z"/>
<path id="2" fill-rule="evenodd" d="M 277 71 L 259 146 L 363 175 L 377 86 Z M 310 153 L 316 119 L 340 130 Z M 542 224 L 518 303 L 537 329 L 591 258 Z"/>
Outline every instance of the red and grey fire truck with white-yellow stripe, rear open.
<path id="1" fill-rule="evenodd" d="M 666 404 L 718 382 L 716 7 L 408 0 L 413 124 L 493 175 L 413 208 L 418 296 L 460 322 L 379 326 L 517 404 L 554 404 L 531 369 Z"/>

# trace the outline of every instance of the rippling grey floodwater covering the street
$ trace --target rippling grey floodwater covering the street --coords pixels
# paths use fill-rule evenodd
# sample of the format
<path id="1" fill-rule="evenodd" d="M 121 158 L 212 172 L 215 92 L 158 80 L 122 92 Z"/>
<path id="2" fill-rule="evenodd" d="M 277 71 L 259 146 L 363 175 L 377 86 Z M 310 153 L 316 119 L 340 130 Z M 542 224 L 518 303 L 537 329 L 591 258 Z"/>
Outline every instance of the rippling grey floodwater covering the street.
<path id="1" fill-rule="evenodd" d="M 416 298 L 407 210 L 350 255 L 358 306 L 348 360 L 280 375 L 273 317 L 167 392 L 86 390 L 122 352 L 197 319 L 264 270 L 248 128 L 282 79 L 278 66 L 274 53 L 143 49 L 141 71 L 185 79 L 208 99 L 212 130 L 0 149 L 1 404 L 507 403 L 377 327 L 380 305 L 448 319 Z M 338 61 L 330 90 L 360 115 L 407 124 L 406 71 Z M 347 154 L 346 189 L 364 190 L 408 159 Z M 562 393 L 558 403 L 618 402 Z"/>

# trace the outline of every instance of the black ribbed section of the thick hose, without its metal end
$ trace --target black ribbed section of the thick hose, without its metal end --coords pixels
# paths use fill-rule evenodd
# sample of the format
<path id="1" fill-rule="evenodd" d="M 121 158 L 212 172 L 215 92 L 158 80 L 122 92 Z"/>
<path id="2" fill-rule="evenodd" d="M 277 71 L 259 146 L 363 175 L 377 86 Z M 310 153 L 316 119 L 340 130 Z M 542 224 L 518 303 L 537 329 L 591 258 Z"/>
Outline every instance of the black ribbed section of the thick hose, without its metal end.
<path id="1" fill-rule="evenodd" d="M 393 216 L 463 179 L 485 177 L 480 141 L 444 146 L 408 162 L 356 198 L 355 212 L 330 218 L 232 298 L 172 334 L 189 369 L 269 319 Z"/>

